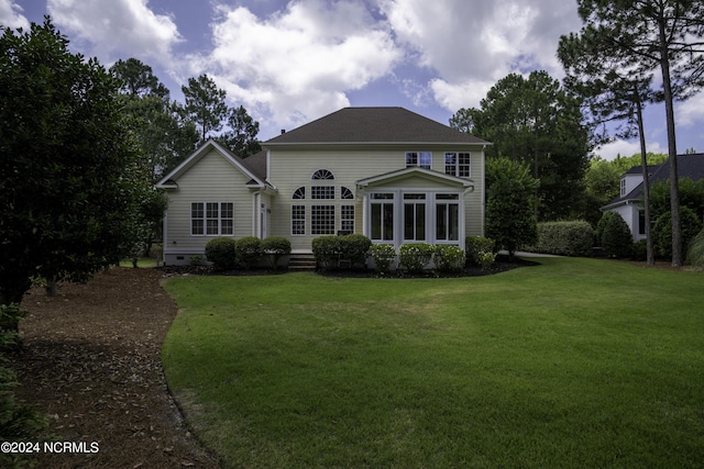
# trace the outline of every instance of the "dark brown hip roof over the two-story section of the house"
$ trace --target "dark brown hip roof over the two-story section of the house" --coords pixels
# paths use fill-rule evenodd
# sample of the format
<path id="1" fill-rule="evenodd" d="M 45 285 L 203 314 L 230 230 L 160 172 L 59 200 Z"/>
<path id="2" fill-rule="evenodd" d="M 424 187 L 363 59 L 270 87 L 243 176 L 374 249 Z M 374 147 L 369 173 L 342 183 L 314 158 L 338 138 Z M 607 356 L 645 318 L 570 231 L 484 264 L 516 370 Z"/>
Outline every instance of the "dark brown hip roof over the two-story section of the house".
<path id="1" fill-rule="evenodd" d="M 441 143 L 491 145 L 404 108 L 344 108 L 282 133 L 263 146 L 290 144 Z"/>

